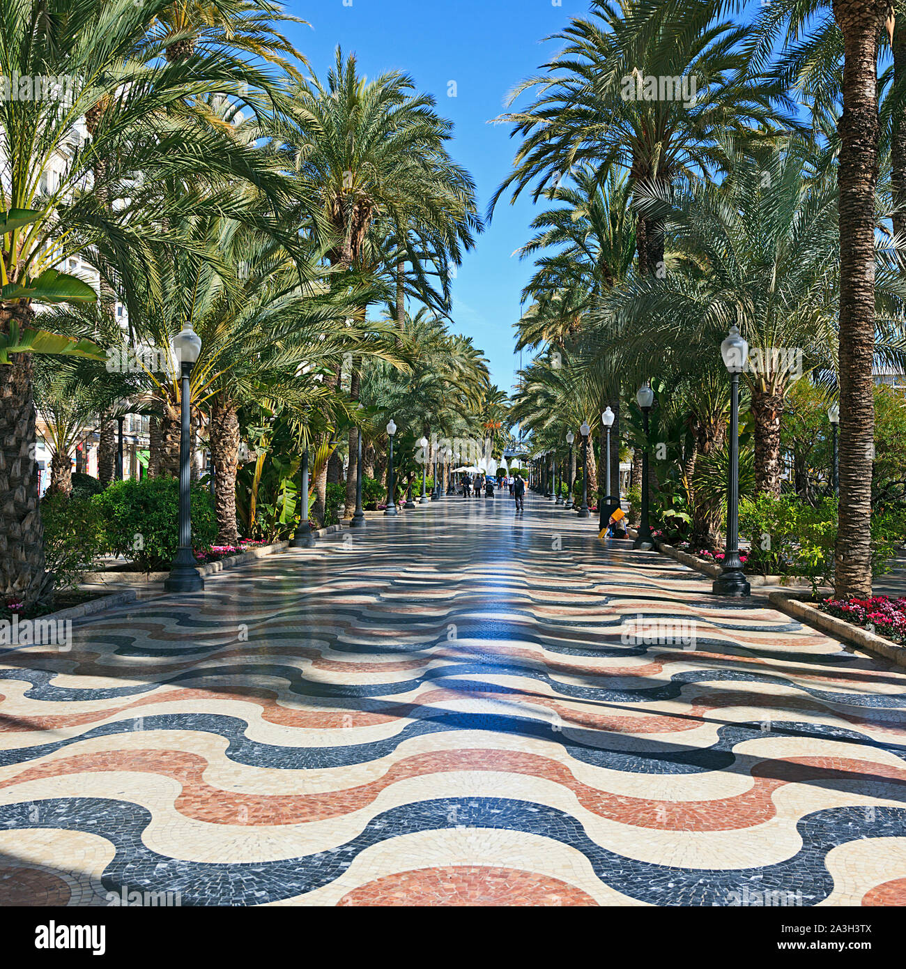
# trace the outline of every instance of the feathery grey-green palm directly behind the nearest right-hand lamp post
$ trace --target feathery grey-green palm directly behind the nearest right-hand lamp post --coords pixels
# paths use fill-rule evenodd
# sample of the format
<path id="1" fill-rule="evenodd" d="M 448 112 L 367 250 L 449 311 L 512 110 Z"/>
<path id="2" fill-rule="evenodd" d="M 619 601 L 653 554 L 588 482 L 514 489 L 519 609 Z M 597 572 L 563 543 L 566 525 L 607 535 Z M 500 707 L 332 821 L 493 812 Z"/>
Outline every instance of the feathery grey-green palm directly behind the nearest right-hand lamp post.
<path id="1" fill-rule="evenodd" d="M 666 202 L 667 199 L 660 200 Z M 732 325 L 752 348 L 745 374 L 755 419 L 756 484 L 780 493 L 780 419 L 791 383 L 827 365 L 836 344 L 836 190 L 796 143 L 739 155 L 724 182 L 670 197 L 677 265 L 616 294 L 623 342 L 686 372 L 716 359 Z M 885 288 L 892 321 L 901 289 Z M 626 335 L 634 328 L 634 335 Z"/>

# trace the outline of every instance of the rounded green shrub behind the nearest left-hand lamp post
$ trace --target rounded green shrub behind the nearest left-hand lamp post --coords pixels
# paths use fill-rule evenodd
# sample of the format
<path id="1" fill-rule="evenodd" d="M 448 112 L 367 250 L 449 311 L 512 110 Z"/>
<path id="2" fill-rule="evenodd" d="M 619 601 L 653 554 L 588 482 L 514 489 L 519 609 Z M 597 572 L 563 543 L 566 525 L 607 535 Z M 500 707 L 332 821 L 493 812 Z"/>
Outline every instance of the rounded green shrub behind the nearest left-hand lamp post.
<path id="1" fill-rule="evenodd" d="M 144 572 L 170 566 L 179 547 L 177 479 L 114 482 L 92 501 L 106 522 L 111 551 L 131 558 Z M 192 543 L 207 549 L 216 537 L 210 492 L 202 485 L 192 485 Z"/>

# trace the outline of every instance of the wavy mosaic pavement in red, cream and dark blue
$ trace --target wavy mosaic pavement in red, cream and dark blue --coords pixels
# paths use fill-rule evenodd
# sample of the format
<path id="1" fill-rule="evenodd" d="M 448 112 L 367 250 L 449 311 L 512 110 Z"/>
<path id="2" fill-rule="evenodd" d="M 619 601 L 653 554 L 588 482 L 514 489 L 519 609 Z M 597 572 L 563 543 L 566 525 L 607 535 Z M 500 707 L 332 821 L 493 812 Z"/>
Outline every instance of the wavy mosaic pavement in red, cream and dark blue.
<path id="1" fill-rule="evenodd" d="M 0 904 L 906 904 L 906 672 L 594 531 L 448 497 L 3 650 Z"/>

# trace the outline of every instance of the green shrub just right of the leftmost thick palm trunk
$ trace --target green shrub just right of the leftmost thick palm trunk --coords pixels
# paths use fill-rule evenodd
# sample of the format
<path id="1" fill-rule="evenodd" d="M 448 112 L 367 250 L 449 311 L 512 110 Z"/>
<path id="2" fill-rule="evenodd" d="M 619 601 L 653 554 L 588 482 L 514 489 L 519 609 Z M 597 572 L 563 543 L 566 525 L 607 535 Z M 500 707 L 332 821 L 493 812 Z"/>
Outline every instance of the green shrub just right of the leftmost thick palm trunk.
<path id="1" fill-rule="evenodd" d="M 78 585 L 108 550 L 103 516 L 91 498 L 55 494 L 42 501 L 41 518 L 47 571 L 57 588 Z"/>

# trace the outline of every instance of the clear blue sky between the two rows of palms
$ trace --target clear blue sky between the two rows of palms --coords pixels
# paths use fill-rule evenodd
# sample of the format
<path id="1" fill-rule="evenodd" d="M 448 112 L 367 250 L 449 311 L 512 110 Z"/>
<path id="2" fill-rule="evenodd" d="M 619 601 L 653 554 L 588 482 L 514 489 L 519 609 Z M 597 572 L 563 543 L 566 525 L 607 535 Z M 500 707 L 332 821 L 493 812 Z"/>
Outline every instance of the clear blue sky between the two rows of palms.
<path id="1" fill-rule="evenodd" d="M 588 11 L 587 0 L 285 0 L 311 23 L 286 33 L 319 77 L 337 44 L 355 51 L 368 77 L 410 74 L 455 125 L 451 152 L 476 180 L 481 209 L 510 170 L 516 141 L 509 126 L 491 125 L 507 93 L 559 48 L 544 38 Z M 757 4 L 757 0 L 755 0 Z M 448 96 L 450 81 L 456 97 Z M 491 379 L 510 391 L 519 359 L 513 324 L 530 262 L 513 256 L 528 238 L 530 199 L 501 201 L 494 219 L 466 255 L 453 282 L 453 328 L 474 338 L 490 360 Z M 525 360 L 527 362 L 527 359 Z"/>

